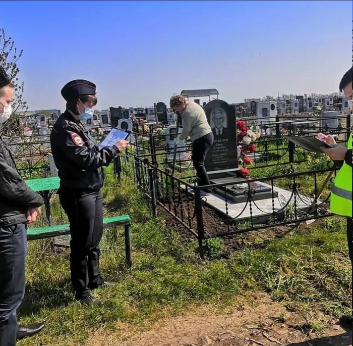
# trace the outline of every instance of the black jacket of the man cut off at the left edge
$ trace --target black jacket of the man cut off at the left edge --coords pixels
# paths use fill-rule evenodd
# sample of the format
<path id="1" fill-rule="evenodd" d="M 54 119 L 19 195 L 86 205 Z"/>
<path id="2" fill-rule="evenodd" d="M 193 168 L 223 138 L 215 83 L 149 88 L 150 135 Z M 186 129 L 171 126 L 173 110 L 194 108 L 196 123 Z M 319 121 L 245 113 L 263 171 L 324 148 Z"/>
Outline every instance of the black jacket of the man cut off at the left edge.
<path id="1" fill-rule="evenodd" d="M 10 150 L 0 136 L 0 227 L 26 223 L 28 209 L 42 204 L 42 197 L 18 173 Z"/>

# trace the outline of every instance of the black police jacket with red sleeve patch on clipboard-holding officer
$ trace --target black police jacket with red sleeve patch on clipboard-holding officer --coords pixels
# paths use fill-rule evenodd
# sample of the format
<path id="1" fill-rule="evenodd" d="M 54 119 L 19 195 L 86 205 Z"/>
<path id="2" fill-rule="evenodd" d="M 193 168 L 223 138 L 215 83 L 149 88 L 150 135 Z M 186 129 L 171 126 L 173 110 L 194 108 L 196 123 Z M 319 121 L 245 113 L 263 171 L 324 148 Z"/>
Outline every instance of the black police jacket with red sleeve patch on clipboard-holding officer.
<path id="1" fill-rule="evenodd" d="M 68 111 L 55 122 L 50 145 L 60 186 L 75 189 L 99 190 L 104 180 L 102 166 L 119 153 L 115 145 L 99 150 L 87 128 Z"/>

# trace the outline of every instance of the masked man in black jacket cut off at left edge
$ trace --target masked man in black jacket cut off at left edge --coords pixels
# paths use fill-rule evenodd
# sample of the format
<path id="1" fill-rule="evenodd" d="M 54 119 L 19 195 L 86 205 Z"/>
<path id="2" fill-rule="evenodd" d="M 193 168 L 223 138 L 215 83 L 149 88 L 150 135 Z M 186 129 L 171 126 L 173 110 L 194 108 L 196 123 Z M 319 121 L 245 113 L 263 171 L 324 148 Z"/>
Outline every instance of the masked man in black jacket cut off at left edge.
<path id="1" fill-rule="evenodd" d="M 0 126 L 12 113 L 14 85 L 0 67 Z M 16 169 L 10 150 L 0 136 L 0 346 L 15 346 L 44 325 L 17 325 L 17 309 L 25 292 L 27 223 L 35 222 L 43 204 Z"/>

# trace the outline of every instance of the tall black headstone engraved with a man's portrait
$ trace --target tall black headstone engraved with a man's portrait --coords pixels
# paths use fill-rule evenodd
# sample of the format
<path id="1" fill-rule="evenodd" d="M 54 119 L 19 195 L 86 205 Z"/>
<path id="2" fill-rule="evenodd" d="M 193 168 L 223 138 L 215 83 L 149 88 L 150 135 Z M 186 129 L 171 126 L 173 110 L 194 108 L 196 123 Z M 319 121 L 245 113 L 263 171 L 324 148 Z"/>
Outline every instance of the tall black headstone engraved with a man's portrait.
<path id="1" fill-rule="evenodd" d="M 205 167 L 208 172 L 238 168 L 236 113 L 233 107 L 222 100 L 213 100 L 205 108 L 211 126 L 214 143 Z"/>

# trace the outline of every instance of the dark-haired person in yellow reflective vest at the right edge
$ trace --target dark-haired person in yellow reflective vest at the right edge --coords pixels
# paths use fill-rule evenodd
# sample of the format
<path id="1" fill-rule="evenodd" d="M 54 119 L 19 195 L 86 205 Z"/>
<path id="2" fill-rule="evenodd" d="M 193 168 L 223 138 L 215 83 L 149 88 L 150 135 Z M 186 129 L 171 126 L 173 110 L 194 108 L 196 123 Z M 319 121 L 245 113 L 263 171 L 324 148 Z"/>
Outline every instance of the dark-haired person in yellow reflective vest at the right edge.
<path id="1" fill-rule="evenodd" d="M 352 73 L 350 68 L 342 77 L 339 91 L 343 91 L 348 98 L 350 109 L 352 108 Z M 351 131 L 350 131 L 351 132 Z M 350 133 L 347 147 L 336 143 L 331 135 L 318 134 L 318 138 L 333 146 L 332 149 L 322 149 L 333 161 L 340 162 L 341 168 L 331 185 L 331 212 L 347 218 L 348 252 L 353 263 L 353 239 L 352 239 L 352 134 Z M 353 314 L 352 314 L 353 315 Z M 353 317 L 343 316 L 339 319 L 341 327 L 351 330 Z"/>

